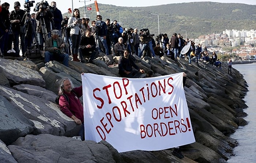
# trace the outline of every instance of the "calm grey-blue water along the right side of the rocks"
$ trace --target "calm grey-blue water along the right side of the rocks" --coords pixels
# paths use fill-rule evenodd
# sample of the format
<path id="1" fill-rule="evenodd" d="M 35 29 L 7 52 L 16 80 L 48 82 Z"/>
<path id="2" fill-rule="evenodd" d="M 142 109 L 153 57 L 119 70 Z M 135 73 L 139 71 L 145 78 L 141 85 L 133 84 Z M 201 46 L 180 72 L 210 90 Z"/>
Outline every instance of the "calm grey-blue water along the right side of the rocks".
<path id="1" fill-rule="evenodd" d="M 248 114 L 244 119 L 249 122 L 246 126 L 239 127 L 232 138 L 236 139 L 239 145 L 234 148 L 235 156 L 232 156 L 229 163 L 256 163 L 256 63 L 232 65 L 248 83 L 248 92 L 244 100 L 248 108 L 244 112 Z M 234 88 L 236 89 L 236 88 Z"/>

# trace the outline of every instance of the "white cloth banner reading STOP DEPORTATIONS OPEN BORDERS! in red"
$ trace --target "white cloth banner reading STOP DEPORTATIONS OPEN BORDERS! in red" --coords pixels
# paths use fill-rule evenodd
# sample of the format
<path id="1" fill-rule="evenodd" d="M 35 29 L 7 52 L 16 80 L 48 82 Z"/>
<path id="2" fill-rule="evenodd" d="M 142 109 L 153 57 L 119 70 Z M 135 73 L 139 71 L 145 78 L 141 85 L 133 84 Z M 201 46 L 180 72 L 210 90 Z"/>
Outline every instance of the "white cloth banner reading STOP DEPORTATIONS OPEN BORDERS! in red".
<path id="1" fill-rule="evenodd" d="M 85 140 L 106 140 L 118 152 L 195 142 L 182 74 L 140 79 L 81 75 Z"/>

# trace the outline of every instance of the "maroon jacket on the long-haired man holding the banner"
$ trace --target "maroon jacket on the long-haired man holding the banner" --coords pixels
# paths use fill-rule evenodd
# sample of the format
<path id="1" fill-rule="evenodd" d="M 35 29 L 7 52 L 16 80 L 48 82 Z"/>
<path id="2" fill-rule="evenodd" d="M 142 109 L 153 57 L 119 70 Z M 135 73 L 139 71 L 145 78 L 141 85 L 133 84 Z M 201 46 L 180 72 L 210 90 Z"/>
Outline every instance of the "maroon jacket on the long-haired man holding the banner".
<path id="1" fill-rule="evenodd" d="M 68 96 L 69 103 L 65 96 L 61 95 L 59 99 L 60 110 L 70 118 L 72 117 L 72 115 L 75 115 L 76 118 L 81 120 L 81 122 L 83 123 L 83 106 L 79 99 L 83 95 L 82 86 L 76 87 L 73 90 L 78 97 L 76 97 L 76 95 L 72 91 L 70 94 L 64 92 Z"/>

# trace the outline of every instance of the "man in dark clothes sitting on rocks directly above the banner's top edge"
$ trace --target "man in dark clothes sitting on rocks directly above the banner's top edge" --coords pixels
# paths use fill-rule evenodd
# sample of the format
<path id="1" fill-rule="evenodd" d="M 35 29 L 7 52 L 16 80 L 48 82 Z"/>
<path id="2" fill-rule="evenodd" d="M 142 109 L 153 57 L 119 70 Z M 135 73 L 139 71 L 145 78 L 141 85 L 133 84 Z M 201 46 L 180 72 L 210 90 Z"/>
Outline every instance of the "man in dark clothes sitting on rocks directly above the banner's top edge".
<path id="1" fill-rule="evenodd" d="M 133 70 L 132 67 L 134 67 L 137 71 Z M 121 77 L 137 78 L 140 77 L 142 73 L 145 73 L 143 69 L 139 69 L 139 67 L 135 64 L 127 49 L 124 50 L 124 56 L 119 58 L 118 69 L 118 73 Z"/>

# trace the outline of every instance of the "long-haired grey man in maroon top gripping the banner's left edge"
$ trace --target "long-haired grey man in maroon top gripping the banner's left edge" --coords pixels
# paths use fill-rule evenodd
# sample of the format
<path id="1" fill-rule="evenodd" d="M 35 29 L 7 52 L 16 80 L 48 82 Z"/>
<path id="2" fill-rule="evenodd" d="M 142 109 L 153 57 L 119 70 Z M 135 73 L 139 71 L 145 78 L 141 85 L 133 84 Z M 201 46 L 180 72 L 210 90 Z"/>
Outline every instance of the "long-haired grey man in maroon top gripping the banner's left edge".
<path id="1" fill-rule="evenodd" d="M 60 110 L 69 118 L 72 118 L 76 124 L 81 125 L 79 136 L 81 136 L 81 140 L 84 140 L 83 106 L 79 99 L 83 95 L 82 86 L 74 88 L 69 79 L 62 79 L 59 87 L 59 95 Z"/>

